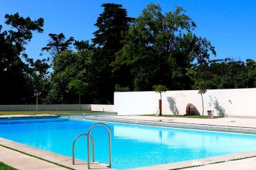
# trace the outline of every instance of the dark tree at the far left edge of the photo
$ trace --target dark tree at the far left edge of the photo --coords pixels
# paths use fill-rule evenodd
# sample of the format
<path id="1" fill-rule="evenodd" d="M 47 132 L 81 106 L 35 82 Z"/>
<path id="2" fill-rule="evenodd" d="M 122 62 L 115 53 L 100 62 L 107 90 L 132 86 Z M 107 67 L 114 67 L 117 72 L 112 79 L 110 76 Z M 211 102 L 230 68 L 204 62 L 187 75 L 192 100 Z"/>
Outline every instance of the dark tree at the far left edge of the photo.
<path id="1" fill-rule="evenodd" d="M 29 103 L 34 98 L 33 86 L 37 81 L 32 75 L 41 72 L 43 61 L 37 61 L 30 67 L 33 60 L 27 58 L 24 45 L 32 38 L 33 31 L 43 32 L 44 20 L 32 21 L 29 17 L 19 16 L 19 13 L 5 15 L 5 18 L 10 30 L 2 31 L 0 26 L 0 103 Z M 29 63 L 25 64 L 22 58 Z"/>

